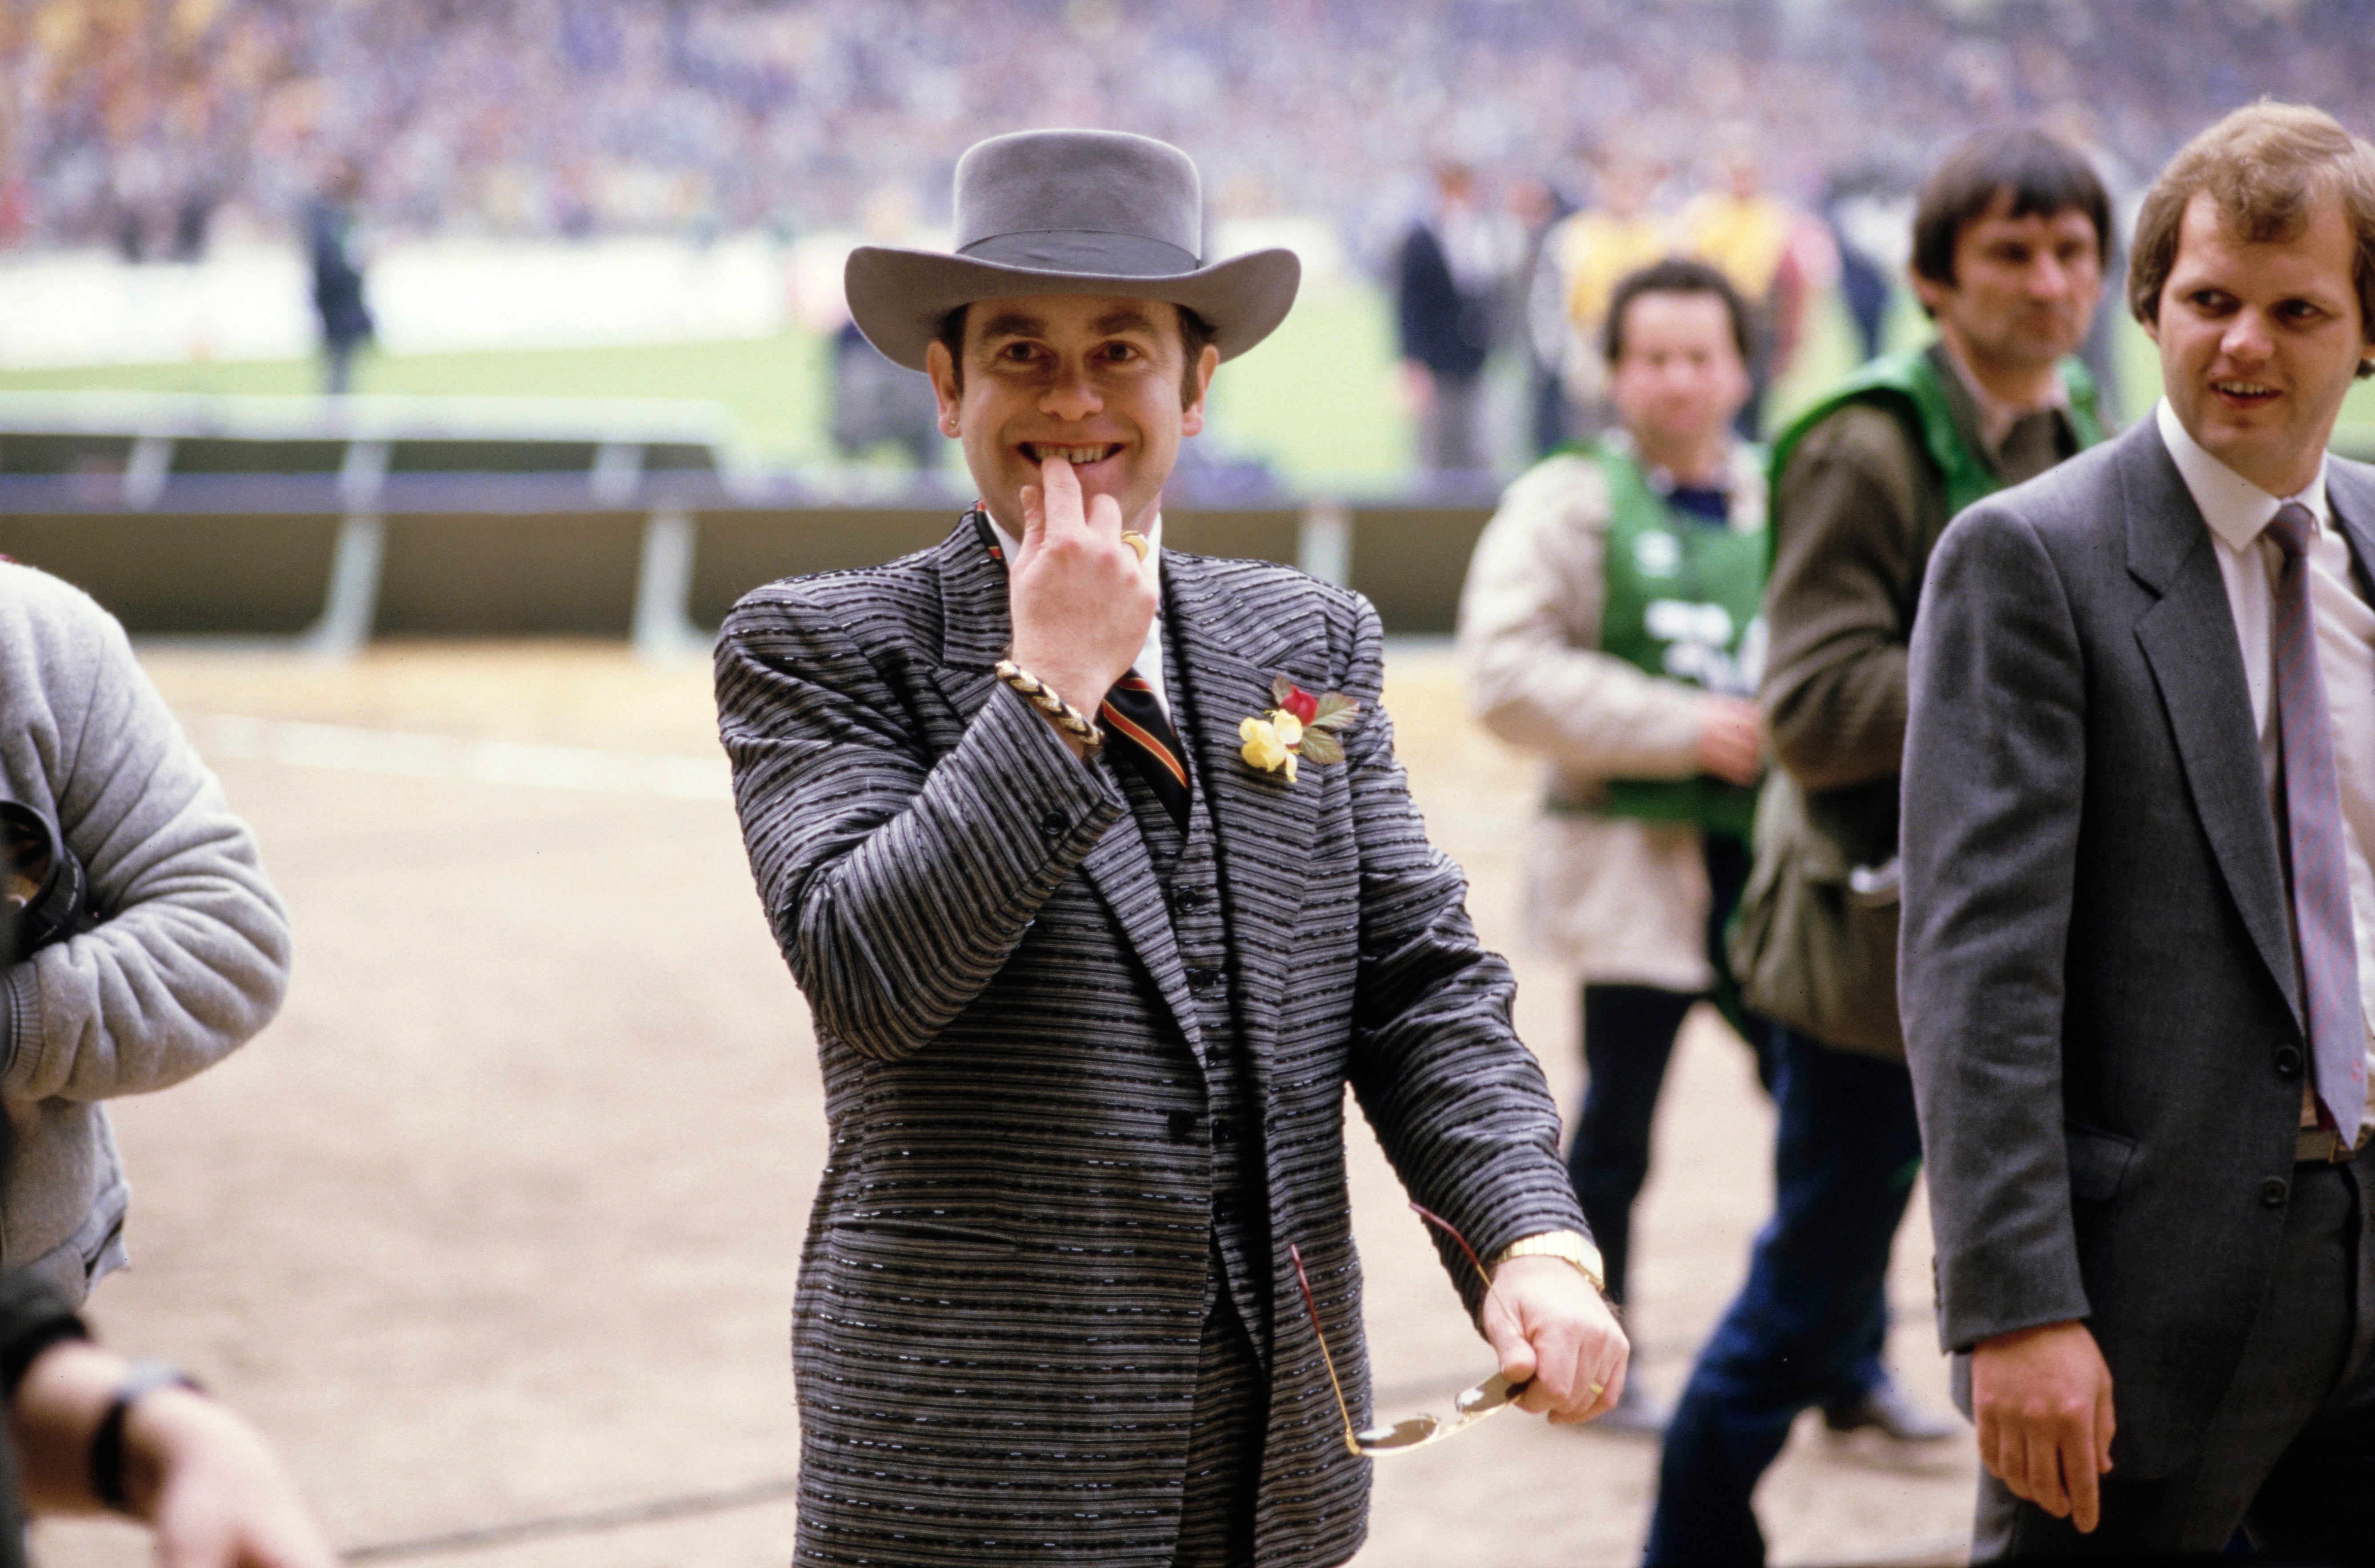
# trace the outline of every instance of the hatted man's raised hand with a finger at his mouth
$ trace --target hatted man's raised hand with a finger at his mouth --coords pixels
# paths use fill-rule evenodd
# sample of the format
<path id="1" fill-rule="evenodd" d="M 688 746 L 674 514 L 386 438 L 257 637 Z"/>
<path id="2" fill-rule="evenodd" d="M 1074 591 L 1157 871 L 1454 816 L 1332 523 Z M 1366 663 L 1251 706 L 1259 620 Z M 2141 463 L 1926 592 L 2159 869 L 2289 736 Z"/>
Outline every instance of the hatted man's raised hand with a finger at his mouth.
<path id="1" fill-rule="evenodd" d="M 1024 539 L 1007 573 L 1014 663 L 1095 715 L 1147 641 L 1152 573 L 1121 542 L 1121 504 L 1102 494 L 1083 504 L 1064 459 L 1040 463 L 1040 482 L 1024 485 L 1021 501 Z"/>

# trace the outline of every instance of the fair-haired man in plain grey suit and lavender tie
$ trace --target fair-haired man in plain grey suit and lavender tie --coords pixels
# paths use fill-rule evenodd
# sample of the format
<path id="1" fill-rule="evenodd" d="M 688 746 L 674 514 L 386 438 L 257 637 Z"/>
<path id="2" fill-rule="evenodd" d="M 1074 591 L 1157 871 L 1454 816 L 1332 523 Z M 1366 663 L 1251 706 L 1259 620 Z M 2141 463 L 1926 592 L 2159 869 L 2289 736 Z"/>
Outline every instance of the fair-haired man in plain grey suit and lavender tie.
<path id="1" fill-rule="evenodd" d="M 2375 1551 L 2375 147 L 2259 105 L 2138 219 L 2164 402 L 1966 511 L 1900 995 L 1974 1558 Z"/>

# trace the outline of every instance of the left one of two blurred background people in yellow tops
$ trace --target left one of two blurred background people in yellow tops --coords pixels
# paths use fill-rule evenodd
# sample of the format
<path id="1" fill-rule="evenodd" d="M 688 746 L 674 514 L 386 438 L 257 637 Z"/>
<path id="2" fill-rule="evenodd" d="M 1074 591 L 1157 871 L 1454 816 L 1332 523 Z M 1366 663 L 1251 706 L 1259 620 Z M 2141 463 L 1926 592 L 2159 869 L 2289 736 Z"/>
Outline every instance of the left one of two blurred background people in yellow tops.
<path id="1" fill-rule="evenodd" d="M 1530 323 L 1539 352 L 1565 366 L 1568 423 L 1582 437 L 1608 428 L 1608 359 L 1601 335 L 1617 278 L 1674 249 L 1672 223 L 1651 207 L 1658 169 L 1632 154 L 1601 159 L 1594 200 L 1544 240 Z"/>

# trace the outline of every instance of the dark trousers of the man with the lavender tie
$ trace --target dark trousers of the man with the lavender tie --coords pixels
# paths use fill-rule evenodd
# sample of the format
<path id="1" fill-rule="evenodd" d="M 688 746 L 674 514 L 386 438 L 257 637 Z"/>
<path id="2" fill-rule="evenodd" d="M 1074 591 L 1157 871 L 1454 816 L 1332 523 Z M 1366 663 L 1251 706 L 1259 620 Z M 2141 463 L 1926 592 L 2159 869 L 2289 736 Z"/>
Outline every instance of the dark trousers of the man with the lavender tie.
<path id="1" fill-rule="evenodd" d="M 1978 1478 L 1971 1561 L 2216 1556 L 2375 1563 L 2375 1366 L 2349 1166 L 2299 1166 L 2285 1240 L 2202 1452 L 2176 1475 L 2102 1478 L 2092 1535 Z M 2171 1259 L 2183 1266 L 2183 1259 Z M 2114 1416 L 2118 1387 L 2111 1390 Z"/>

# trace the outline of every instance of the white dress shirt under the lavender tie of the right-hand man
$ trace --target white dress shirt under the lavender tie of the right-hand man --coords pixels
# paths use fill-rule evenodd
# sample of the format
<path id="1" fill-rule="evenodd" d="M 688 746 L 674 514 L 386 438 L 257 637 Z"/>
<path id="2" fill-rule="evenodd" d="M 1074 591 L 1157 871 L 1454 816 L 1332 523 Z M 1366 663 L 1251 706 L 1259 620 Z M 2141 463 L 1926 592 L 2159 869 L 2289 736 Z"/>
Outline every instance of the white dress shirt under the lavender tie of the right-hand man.
<path id="1" fill-rule="evenodd" d="M 2225 577 L 2228 608 L 2235 611 L 2242 672 L 2252 687 L 2252 722 L 2259 729 L 2259 767 L 2268 779 L 2278 832 L 2285 827 L 2285 805 L 2275 794 L 2282 755 L 2270 698 L 2275 663 L 2270 639 L 2275 575 L 2282 570 L 2285 551 L 2266 537 L 2266 527 L 2287 501 L 2299 501 L 2316 518 L 2308 544 L 2308 606 L 2318 625 L 2318 675 L 2325 677 L 2325 708 L 2335 727 L 2342 851 L 2351 874 L 2351 946 L 2358 950 L 2358 1007 L 2361 1017 L 2375 1019 L 2375 870 L 2368 867 L 2368 846 L 2375 843 L 2375 608 L 2358 594 L 2349 539 L 2335 527 L 2325 501 L 2325 463 L 2318 463 L 2316 478 L 2297 494 L 2270 497 L 2204 451 L 2168 399 L 2161 399 L 2154 418 L 2178 475 L 2185 478 L 2185 489 L 2192 492 L 2218 544 L 2218 575 Z M 2368 1057 L 2375 1064 L 2375 1036 Z M 2375 1071 L 2368 1074 L 2368 1088 L 2375 1107 Z M 2301 1119 L 2313 1121 L 2313 1107 L 2304 1105 Z"/>

